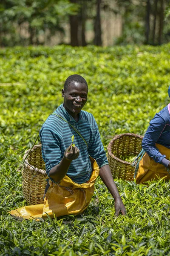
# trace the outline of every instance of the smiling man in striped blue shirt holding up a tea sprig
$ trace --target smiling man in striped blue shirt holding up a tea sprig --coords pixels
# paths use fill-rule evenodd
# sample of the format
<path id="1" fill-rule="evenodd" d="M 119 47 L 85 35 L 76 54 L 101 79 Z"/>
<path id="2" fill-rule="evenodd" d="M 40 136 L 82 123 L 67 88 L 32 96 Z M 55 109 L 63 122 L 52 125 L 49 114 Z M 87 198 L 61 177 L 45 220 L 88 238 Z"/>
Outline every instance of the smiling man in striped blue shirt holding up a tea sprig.
<path id="1" fill-rule="evenodd" d="M 42 157 L 49 177 L 43 212 L 51 217 L 82 213 L 91 201 L 99 175 L 115 200 L 116 215 L 126 213 L 116 188 L 99 130 L 91 113 L 82 111 L 88 84 L 82 76 L 69 76 L 62 89 L 64 103 L 40 130 Z M 71 137 L 74 135 L 74 144 Z"/>

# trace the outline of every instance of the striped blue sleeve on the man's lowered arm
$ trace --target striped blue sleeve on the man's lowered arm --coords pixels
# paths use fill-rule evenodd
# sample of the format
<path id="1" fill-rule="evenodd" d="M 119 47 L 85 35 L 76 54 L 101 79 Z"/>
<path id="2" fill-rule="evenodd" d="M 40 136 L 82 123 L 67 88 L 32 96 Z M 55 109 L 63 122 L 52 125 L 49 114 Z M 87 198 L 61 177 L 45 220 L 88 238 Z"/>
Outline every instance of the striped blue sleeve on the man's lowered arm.
<path id="1" fill-rule="evenodd" d="M 100 139 L 99 129 L 96 123 L 96 120 L 93 117 L 93 125 L 94 125 L 94 136 L 93 140 L 91 141 L 89 147 L 88 147 L 88 154 L 93 157 L 99 168 L 102 168 L 102 166 L 105 166 L 108 164 L 108 159 L 106 157 L 106 152 L 104 150 L 102 141 Z"/>

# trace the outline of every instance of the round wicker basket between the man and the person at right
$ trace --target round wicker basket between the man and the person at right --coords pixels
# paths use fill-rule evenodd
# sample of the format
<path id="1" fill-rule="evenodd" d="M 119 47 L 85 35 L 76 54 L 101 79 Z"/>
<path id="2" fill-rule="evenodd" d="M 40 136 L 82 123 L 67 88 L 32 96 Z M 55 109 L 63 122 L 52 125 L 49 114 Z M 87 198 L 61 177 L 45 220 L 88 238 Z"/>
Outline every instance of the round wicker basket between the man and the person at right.
<path id="1" fill-rule="evenodd" d="M 135 157 L 142 150 L 143 136 L 120 134 L 113 137 L 108 145 L 108 162 L 114 178 L 133 180 L 135 168 L 131 163 L 121 160 L 122 156 Z"/>

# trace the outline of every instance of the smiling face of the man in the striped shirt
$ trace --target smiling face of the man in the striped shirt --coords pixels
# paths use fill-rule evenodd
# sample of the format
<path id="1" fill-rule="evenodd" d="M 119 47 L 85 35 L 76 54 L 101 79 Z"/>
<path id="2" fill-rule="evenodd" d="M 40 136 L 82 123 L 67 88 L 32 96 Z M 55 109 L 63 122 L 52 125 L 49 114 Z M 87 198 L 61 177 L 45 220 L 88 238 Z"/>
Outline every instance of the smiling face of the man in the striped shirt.
<path id="1" fill-rule="evenodd" d="M 88 99 L 88 88 L 86 84 L 72 81 L 66 90 L 62 89 L 62 97 L 64 97 L 64 107 L 69 114 L 78 114 Z"/>

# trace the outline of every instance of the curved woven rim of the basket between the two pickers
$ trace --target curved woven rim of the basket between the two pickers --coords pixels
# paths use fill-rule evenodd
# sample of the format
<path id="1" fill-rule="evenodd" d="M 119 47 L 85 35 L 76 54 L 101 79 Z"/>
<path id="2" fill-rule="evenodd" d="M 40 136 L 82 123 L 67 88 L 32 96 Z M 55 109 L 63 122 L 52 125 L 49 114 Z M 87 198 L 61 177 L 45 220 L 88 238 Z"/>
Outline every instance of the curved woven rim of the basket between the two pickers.
<path id="1" fill-rule="evenodd" d="M 130 165 L 132 166 L 131 163 L 127 162 L 127 161 L 124 161 L 124 160 L 121 160 L 120 158 L 116 157 L 112 152 L 111 152 L 111 146 L 113 144 L 113 141 L 114 140 L 117 140 L 121 137 L 136 137 L 136 138 L 139 138 L 139 139 L 143 139 L 143 136 L 142 135 L 139 135 L 139 134 L 133 134 L 133 133 L 125 133 L 125 134 L 119 134 L 119 135 L 115 135 L 113 137 L 113 139 L 109 142 L 108 144 L 108 154 L 109 156 L 111 156 L 113 159 L 115 159 L 116 161 L 120 162 L 120 163 L 124 163 L 124 164 L 127 164 L 127 165 Z"/>

